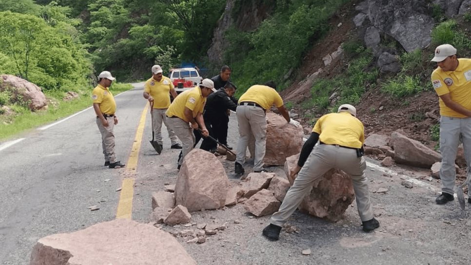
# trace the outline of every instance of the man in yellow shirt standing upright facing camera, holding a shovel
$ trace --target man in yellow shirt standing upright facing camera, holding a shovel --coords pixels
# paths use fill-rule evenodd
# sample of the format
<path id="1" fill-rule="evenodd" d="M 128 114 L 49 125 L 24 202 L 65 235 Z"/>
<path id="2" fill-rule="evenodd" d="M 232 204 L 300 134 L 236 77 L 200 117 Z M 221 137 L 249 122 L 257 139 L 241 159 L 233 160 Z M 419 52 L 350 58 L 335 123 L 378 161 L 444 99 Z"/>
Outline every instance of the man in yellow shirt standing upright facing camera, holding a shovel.
<path id="1" fill-rule="evenodd" d="M 155 132 L 156 142 L 160 145 L 162 150 L 162 122 L 167 127 L 168 136 L 171 142 L 171 149 L 181 149 L 181 146 L 177 142 L 177 135 L 169 128 L 167 124 L 167 116 L 165 112 L 170 106 L 170 93 L 174 98 L 177 97 L 177 92 L 174 89 L 174 84 L 167 76 L 162 75 L 162 68 L 160 65 L 152 66 L 152 77 L 146 81 L 144 85 L 143 96 L 151 103 L 151 119 L 152 119 L 152 131 Z"/>

